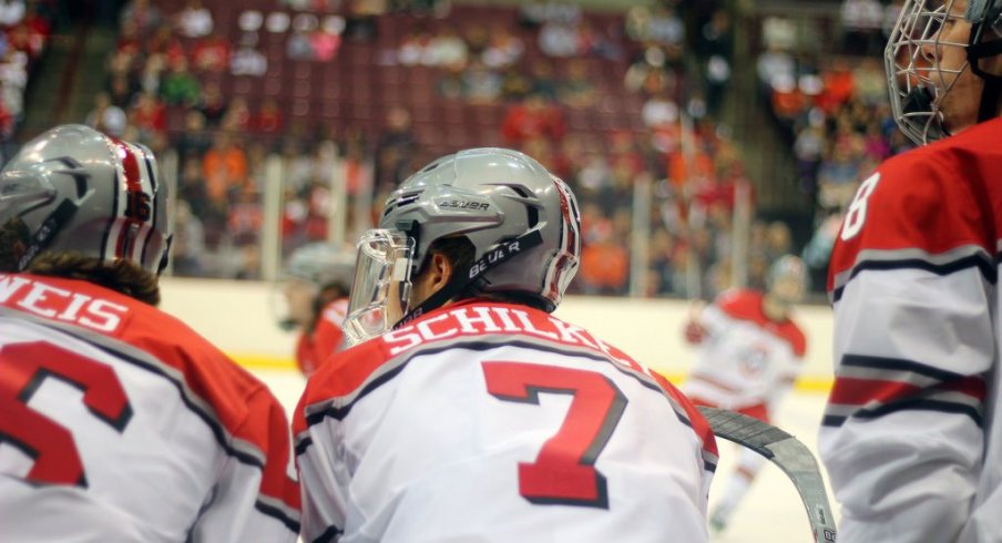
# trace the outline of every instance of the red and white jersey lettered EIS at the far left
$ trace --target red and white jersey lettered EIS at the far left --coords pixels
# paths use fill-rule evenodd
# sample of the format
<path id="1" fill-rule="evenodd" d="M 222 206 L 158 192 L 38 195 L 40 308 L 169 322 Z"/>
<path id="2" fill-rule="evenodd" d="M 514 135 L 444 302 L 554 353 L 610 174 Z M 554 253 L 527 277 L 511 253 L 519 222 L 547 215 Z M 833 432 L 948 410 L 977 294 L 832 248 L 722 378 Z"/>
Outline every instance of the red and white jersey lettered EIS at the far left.
<path id="1" fill-rule="evenodd" d="M 0 274 L 0 541 L 295 542 L 268 389 L 178 320 Z"/>

